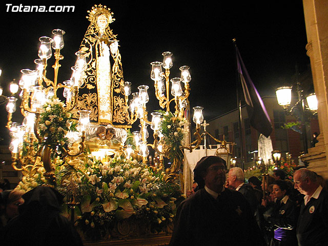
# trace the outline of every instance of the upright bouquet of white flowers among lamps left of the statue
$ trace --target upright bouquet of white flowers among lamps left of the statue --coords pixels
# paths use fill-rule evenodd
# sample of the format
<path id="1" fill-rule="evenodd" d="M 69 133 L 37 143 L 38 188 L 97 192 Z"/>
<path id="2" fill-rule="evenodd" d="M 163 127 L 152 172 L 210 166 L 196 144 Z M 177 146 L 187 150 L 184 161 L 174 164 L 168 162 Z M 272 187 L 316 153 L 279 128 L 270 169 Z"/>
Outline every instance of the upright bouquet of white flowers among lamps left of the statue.
<path id="1" fill-rule="evenodd" d="M 43 107 L 38 122 L 39 135 L 44 138 L 42 145 L 56 150 L 52 157 L 61 153 L 66 144 L 68 131 L 76 131 L 77 122 L 71 118 L 71 113 L 64 109 L 64 104 L 58 98 L 51 98 Z"/>

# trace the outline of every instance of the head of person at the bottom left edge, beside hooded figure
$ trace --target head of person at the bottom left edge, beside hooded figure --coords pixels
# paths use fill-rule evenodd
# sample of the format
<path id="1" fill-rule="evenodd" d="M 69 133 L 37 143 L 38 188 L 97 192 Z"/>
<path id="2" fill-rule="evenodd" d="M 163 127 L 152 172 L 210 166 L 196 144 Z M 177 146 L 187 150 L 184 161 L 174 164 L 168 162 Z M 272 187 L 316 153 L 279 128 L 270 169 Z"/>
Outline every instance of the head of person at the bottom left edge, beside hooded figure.
<path id="1" fill-rule="evenodd" d="M 19 214 L 18 208 L 24 203 L 23 191 L 7 190 L 2 192 L 2 211 L 11 219 Z"/>

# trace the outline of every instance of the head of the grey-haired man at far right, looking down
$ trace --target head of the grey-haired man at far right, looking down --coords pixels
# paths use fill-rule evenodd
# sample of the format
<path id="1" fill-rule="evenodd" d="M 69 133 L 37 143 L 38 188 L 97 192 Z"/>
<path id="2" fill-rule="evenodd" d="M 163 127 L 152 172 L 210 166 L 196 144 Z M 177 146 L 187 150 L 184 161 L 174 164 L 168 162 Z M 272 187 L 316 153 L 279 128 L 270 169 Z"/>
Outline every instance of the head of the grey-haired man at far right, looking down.
<path id="1" fill-rule="evenodd" d="M 294 188 L 303 195 L 312 195 L 318 188 L 317 174 L 307 168 L 301 168 L 294 173 Z"/>

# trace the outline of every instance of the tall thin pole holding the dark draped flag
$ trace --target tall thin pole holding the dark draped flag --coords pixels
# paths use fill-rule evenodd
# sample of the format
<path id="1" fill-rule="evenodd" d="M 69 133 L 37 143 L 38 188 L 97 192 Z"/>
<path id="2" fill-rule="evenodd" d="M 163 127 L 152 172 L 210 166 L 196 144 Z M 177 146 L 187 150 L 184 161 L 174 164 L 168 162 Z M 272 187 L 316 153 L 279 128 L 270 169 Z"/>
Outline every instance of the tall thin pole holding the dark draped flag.
<path id="1" fill-rule="evenodd" d="M 237 108 L 238 108 L 238 131 L 239 131 L 239 146 L 240 146 L 240 162 L 241 162 L 241 169 L 244 171 L 244 150 L 243 150 L 243 137 L 242 137 L 242 129 L 241 129 L 241 100 L 239 98 L 239 74 L 238 74 L 238 65 L 237 65 L 237 44 L 236 44 L 236 38 L 232 39 L 232 42 L 234 44 L 234 50 L 235 50 L 235 68 L 236 68 L 236 91 L 237 91 Z"/>

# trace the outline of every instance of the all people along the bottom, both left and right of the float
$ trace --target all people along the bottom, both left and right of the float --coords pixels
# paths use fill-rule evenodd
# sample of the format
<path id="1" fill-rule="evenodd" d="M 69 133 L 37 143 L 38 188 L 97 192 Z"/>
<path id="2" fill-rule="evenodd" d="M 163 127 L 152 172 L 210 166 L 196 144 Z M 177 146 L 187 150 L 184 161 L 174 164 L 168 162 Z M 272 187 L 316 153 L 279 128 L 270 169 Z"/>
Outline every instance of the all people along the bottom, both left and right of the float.
<path id="1" fill-rule="evenodd" d="M 206 156 L 197 162 L 194 180 L 177 208 L 170 245 L 328 245 L 326 181 L 307 168 L 296 170 L 293 181 L 275 170 L 245 183 L 242 169 L 227 173 L 226 161 Z M 60 215 L 62 202 L 50 187 L 1 191 L 1 245 L 83 245 Z"/>

